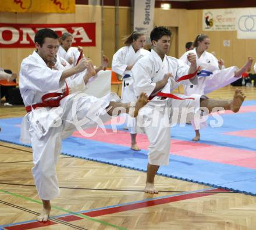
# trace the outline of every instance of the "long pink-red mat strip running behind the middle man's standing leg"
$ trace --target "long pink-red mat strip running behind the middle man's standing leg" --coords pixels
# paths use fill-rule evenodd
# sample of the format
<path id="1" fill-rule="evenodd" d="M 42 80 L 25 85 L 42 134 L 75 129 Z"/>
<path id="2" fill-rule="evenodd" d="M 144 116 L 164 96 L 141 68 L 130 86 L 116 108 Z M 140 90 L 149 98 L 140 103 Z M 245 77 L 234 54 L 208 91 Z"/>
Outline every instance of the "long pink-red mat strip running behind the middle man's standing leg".
<path id="1" fill-rule="evenodd" d="M 94 129 L 92 128 L 86 131 L 90 133 L 93 132 Z M 77 138 L 85 138 L 78 131 L 74 132 L 72 136 Z M 85 139 L 127 147 L 130 147 L 131 143 L 130 134 L 129 132 L 125 131 L 118 131 L 114 133 L 112 130 L 107 130 L 107 134 L 105 134 L 101 129 L 98 129 L 94 136 Z M 148 140 L 146 135 L 137 134 L 137 142 L 141 149 L 148 148 Z M 171 153 L 178 156 L 186 156 L 200 160 L 232 164 L 233 166 L 256 168 L 256 152 L 250 150 L 234 149 L 225 146 L 214 146 L 204 143 L 172 139 Z"/>

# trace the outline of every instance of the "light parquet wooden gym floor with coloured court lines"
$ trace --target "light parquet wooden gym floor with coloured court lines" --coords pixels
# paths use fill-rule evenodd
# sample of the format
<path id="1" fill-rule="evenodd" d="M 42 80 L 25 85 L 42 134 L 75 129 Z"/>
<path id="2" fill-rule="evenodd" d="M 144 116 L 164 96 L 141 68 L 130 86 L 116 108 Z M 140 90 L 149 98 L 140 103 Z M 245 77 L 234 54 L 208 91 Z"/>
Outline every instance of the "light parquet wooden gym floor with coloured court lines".
<path id="1" fill-rule="evenodd" d="M 209 97 L 232 98 L 234 89 L 225 87 Z M 247 99 L 256 99 L 256 88 L 243 91 Z M 1 118 L 24 114 L 22 106 L 0 106 Z M 30 148 L 0 142 L 0 226 L 24 222 L 16 229 L 26 229 L 26 222 L 40 213 L 31 167 Z M 161 176 L 156 186 L 162 192 L 149 195 L 143 192 L 143 172 L 63 155 L 57 172 L 61 195 L 52 200 L 51 216 L 69 214 L 70 220 L 54 218 L 37 229 L 256 229 L 254 196 L 208 191 L 208 186 Z M 86 210 L 90 218 L 70 214 Z"/>

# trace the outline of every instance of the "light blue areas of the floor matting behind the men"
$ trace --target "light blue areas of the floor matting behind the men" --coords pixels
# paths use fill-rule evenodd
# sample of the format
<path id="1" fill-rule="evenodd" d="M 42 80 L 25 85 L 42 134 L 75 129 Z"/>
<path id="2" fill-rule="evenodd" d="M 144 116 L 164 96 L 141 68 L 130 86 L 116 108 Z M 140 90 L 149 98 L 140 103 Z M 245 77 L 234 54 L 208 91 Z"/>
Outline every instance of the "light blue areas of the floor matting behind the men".
<path id="1" fill-rule="evenodd" d="M 247 101 L 244 105 L 256 105 L 256 101 Z M 224 124 L 220 128 L 206 128 L 201 131 L 203 141 L 214 146 L 228 146 L 234 149 L 256 151 L 255 138 L 226 135 L 225 132 L 256 129 L 256 112 L 223 115 Z M 0 120 L 0 140 L 17 145 L 19 142 L 19 124 L 22 118 Z M 108 127 L 106 127 L 108 128 Z M 122 129 L 122 126 L 119 127 Z M 194 131 L 190 126 L 172 128 L 172 138 L 190 141 Z M 81 159 L 94 160 L 114 166 L 146 171 L 147 151 L 134 152 L 126 146 L 92 141 L 71 136 L 63 141 L 62 153 Z M 223 153 L 225 154 L 225 153 Z M 256 162 L 255 162 L 256 164 Z M 160 167 L 159 175 L 197 182 L 215 188 L 229 189 L 235 192 L 256 195 L 256 170 L 230 164 L 214 163 L 183 156 L 170 156 L 169 166 Z"/>

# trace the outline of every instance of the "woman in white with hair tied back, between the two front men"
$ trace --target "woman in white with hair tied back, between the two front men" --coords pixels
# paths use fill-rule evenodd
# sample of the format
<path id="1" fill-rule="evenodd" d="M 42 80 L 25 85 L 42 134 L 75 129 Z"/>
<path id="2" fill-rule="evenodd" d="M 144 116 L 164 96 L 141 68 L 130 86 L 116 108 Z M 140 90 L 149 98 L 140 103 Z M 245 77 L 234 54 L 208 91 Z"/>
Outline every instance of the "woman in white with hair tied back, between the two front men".
<path id="1" fill-rule="evenodd" d="M 146 37 L 143 33 L 133 31 L 128 37 L 124 39 L 124 44 L 114 55 L 112 60 L 112 71 L 122 76 L 122 102 L 132 102 L 135 99 L 134 83 L 131 77 L 131 68 L 141 57 L 150 53 L 145 46 Z M 131 120 L 130 118 L 128 118 Z M 131 135 L 131 149 L 140 150 L 136 142 L 136 118 L 133 118 L 130 126 Z"/>

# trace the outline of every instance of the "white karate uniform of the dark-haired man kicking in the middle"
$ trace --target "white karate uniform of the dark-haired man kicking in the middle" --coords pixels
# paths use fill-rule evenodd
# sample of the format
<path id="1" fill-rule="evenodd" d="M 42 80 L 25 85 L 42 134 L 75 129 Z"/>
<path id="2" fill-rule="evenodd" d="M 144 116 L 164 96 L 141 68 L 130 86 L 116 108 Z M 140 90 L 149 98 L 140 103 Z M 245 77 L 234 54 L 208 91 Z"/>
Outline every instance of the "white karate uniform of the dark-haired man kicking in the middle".
<path id="1" fill-rule="evenodd" d="M 134 79 L 135 95 L 141 92 L 151 95 L 155 89 L 156 82 L 163 79 L 166 73 L 172 73 L 175 80 L 189 72 L 189 66 L 175 57 L 161 57 L 152 49 L 150 55 L 147 55 L 133 66 L 132 76 Z M 161 92 L 170 93 L 171 88 L 176 85 L 173 78 Z M 197 78 L 193 80 L 196 84 Z M 191 84 L 190 80 L 185 80 L 183 84 Z M 184 95 L 177 95 L 184 98 Z M 141 108 L 138 114 L 137 124 L 147 135 L 150 145 L 148 147 L 148 162 L 154 165 L 168 165 L 170 151 L 170 121 L 172 123 L 186 123 L 186 116 L 181 118 L 182 107 L 190 108 L 188 116 L 194 116 L 194 113 L 200 110 L 200 98 L 202 95 L 191 95 L 195 100 L 176 100 L 171 98 L 163 99 L 155 96 L 150 102 Z M 166 110 L 166 108 L 170 108 Z M 176 109 L 175 109 L 176 108 Z M 178 111 L 177 111 L 178 110 Z M 175 113 L 179 113 L 179 119 L 173 121 Z M 158 116 L 159 114 L 159 116 Z"/>

